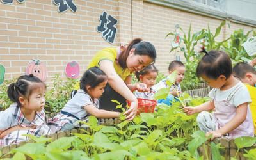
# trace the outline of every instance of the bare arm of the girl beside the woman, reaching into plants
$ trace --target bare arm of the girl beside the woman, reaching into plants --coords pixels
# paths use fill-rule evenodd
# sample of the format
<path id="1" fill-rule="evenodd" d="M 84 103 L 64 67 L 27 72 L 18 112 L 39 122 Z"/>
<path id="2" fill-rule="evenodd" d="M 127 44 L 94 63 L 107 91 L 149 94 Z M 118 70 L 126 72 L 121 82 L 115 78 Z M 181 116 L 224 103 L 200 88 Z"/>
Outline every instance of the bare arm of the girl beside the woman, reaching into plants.
<path id="1" fill-rule="evenodd" d="M 84 106 L 84 109 L 97 118 L 118 118 L 120 115 L 120 112 L 98 109 L 93 105 Z"/>

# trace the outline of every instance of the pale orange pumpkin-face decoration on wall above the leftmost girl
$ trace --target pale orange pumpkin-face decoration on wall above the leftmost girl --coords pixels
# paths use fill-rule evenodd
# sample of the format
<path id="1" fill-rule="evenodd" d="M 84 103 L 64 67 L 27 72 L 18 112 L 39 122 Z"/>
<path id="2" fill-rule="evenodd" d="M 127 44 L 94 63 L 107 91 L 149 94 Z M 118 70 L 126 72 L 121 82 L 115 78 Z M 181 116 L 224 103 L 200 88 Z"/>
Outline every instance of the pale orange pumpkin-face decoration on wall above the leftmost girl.
<path id="1" fill-rule="evenodd" d="M 41 79 L 41 81 L 45 81 L 47 75 L 47 69 L 45 64 L 40 60 L 30 61 L 26 67 L 26 75 L 29 74 L 33 74 L 34 76 Z"/>

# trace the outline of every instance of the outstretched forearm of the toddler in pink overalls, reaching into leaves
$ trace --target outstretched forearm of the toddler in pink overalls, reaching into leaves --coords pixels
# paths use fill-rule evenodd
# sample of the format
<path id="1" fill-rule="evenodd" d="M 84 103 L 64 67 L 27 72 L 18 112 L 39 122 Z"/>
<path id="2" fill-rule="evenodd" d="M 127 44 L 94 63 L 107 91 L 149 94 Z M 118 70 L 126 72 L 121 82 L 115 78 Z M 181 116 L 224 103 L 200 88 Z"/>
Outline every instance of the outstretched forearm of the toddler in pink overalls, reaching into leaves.
<path id="1" fill-rule="evenodd" d="M 196 107 L 184 107 L 183 111 L 187 115 L 193 115 L 194 113 L 199 113 L 201 111 L 211 111 L 214 108 L 214 100 L 210 100 L 209 102 L 205 102 L 204 104 L 200 104 Z"/>

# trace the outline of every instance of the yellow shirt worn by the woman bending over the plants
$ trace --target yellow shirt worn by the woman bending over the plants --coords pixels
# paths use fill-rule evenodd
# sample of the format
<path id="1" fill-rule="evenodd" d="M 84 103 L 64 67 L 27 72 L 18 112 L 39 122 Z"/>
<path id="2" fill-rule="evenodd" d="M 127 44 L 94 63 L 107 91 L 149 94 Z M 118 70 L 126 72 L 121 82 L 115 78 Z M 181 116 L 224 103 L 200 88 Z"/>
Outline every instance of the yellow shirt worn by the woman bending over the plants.
<path id="1" fill-rule="evenodd" d="M 130 76 L 132 73 L 128 70 L 128 68 L 124 69 L 118 64 L 117 54 L 118 54 L 117 48 L 108 47 L 108 48 L 102 49 L 101 51 L 99 51 L 95 54 L 95 56 L 92 58 L 92 61 L 89 63 L 87 69 L 91 68 L 91 67 L 95 67 L 95 66 L 99 67 L 99 62 L 102 60 L 110 60 L 113 62 L 116 73 L 124 81 L 126 79 L 126 77 Z M 79 82 L 78 82 L 78 83 L 76 83 L 74 89 L 78 90 L 79 88 L 80 88 L 80 86 L 79 86 Z"/>

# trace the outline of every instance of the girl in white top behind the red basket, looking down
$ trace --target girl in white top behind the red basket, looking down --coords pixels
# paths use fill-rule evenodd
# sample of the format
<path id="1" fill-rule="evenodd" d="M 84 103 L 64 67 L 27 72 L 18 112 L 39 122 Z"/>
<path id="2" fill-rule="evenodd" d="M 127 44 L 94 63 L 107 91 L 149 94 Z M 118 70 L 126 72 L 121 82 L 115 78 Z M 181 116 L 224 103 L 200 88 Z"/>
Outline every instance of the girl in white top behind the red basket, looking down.
<path id="1" fill-rule="evenodd" d="M 156 82 L 157 74 L 158 70 L 154 65 L 148 65 L 147 67 L 143 68 L 143 70 L 135 72 L 135 76 L 138 81 L 140 81 L 140 83 L 146 84 L 147 88 L 150 88 L 148 92 L 138 92 L 138 90 L 136 90 L 134 95 L 137 98 L 153 99 L 155 91 L 152 90 L 151 87 Z"/>

